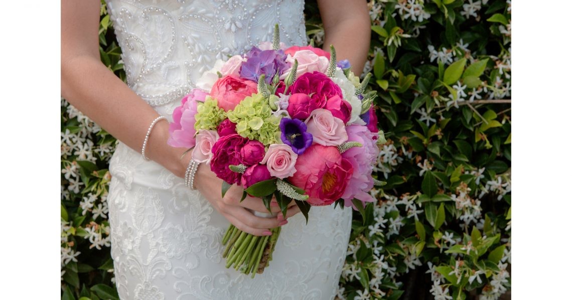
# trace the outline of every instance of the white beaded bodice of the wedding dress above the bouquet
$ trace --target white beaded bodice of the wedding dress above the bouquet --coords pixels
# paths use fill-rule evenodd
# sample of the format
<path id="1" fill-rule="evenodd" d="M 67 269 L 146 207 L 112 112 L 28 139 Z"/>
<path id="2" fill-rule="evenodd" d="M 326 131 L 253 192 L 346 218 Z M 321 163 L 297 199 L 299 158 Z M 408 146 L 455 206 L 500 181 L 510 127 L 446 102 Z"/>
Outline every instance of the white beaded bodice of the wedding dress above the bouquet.
<path id="1" fill-rule="evenodd" d="M 275 23 L 286 45 L 307 45 L 303 0 L 108 0 L 108 7 L 128 85 L 152 106 L 180 100 L 216 59 L 271 41 Z"/>

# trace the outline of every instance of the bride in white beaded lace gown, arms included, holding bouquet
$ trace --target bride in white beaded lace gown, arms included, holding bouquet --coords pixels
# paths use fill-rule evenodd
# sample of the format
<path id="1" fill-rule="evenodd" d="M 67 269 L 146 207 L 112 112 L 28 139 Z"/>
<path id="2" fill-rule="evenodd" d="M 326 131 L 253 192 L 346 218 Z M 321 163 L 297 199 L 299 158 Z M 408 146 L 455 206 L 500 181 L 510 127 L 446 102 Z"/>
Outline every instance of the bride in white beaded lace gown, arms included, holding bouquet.
<path id="1" fill-rule="evenodd" d="M 370 41 L 366 1 L 319 0 L 325 45 L 360 74 Z M 201 164 L 185 186 L 190 155 L 167 145 L 180 99 L 217 58 L 271 41 L 307 45 L 303 0 L 109 0 L 127 85 L 98 53 L 100 1 L 61 2 L 61 93 L 120 143 L 110 162 L 109 222 L 121 299 L 332 299 L 345 259 L 351 210 L 296 205 L 287 218 L 257 217 L 236 185 Z M 276 211 L 277 207 L 274 208 Z M 254 235 L 283 226 L 273 260 L 254 279 L 225 269 L 229 223 Z"/>

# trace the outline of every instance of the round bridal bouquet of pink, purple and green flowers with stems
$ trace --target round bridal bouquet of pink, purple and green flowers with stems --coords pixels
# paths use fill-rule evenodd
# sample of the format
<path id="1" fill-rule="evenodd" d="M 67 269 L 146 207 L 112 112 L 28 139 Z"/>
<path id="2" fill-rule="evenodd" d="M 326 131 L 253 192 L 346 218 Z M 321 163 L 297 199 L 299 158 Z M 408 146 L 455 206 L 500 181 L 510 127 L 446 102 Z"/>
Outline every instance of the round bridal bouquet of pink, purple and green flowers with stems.
<path id="1" fill-rule="evenodd" d="M 292 201 L 306 221 L 311 206 L 336 203 L 363 209 L 378 157 L 375 92 L 347 61 L 312 46 L 285 48 L 277 26 L 273 42 L 218 61 L 173 112 L 169 145 L 192 149 L 196 162 L 286 214 Z M 280 227 L 256 237 L 231 225 L 223 238 L 227 267 L 262 273 Z"/>

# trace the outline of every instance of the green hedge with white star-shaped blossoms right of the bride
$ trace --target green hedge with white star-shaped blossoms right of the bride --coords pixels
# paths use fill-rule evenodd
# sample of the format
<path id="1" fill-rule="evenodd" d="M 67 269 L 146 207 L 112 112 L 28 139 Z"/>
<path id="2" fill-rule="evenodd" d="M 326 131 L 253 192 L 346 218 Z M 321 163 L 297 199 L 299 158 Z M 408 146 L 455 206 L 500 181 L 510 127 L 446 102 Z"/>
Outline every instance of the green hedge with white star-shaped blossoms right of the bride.
<path id="1" fill-rule="evenodd" d="M 510 1 L 368 6 L 387 185 L 353 215 L 338 297 L 497 299 L 510 290 Z M 321 21 L 307 30 L 321 46 Z"/>

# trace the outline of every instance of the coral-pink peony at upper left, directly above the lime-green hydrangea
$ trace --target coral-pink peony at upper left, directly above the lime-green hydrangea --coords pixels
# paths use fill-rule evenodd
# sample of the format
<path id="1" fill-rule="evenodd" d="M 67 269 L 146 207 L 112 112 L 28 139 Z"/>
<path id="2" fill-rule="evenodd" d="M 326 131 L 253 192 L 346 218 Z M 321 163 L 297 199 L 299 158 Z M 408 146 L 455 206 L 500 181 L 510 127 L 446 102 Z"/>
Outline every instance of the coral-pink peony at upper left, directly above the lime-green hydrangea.
<path id="1" fill-rule="evenodd" d="M 221 109 L 229 111 L 234 109 L 244 98 L 255 94 L 256 91 L 256 82 L 241 79 L 235 75 L 228 75 L 215 82 L 212 90 L 210 90 L 210 97 L 217 99 Z"/>

